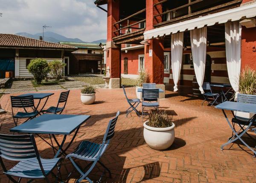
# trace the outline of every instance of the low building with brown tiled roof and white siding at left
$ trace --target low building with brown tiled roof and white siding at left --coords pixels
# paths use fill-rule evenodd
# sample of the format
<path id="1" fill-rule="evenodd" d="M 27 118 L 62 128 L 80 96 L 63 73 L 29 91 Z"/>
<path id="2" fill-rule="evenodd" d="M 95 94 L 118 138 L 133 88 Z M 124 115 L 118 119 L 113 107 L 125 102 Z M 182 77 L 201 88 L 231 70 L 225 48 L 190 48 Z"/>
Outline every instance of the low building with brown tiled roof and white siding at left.
<path id="1" fill-rule="evenodd" d="M 32 77 L 27 66 L 33 58 L 44 58 L 49 62 L 61 60 L 64 55 L 76 51 L 74 46 L 50 43 L 14 34 L 0 34 L 0 78 L 6 71 L 12 72 L 12 77 Z M 65 73 L 69 72 L 70 64 L 66 62 Z"/>

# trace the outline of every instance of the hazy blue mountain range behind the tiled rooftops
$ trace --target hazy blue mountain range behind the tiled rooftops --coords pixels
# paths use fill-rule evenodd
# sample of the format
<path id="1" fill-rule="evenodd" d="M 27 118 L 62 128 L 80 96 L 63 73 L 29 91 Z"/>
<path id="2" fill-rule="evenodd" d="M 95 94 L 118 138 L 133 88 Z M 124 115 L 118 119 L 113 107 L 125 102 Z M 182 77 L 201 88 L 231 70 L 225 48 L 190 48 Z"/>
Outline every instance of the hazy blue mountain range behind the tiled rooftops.
<path id="1" fill-rule="evenodd" d="M 34 39 L 39 40 L 39 37 L 42 36 L 43 33 L 41 32 L 41 33 L 37 33 L 37 34 L 29 34 L 27 32 L 19 32 L 16 35 L 34 38 Z M 51 32 L 51 31 L 44 32 L 44 40 L 52 42 L 52 43 L 58 43 L 60 41 L 67 41 L 67 42 L 95 43 L 95 44 L 106 43 L 106 41 L 107 41 L 107 40 L 102 39 L 102 40 L 96 40 L 93 42 L 85 42 L 79 38 L 68 38 L 68 37 L 62 36 L 61 34 L 57 34 L 57 33 Z"/>

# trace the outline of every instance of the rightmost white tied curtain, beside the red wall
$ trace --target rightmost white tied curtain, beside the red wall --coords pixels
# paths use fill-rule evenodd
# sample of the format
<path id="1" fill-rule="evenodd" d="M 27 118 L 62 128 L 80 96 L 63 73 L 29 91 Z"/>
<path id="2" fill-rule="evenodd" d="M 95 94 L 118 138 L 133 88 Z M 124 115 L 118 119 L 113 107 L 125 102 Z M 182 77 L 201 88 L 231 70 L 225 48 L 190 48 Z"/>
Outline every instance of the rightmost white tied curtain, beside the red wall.
<path id="1" fill-rule="evenodd" d="M 225 23 L 227 72 L 230 84 L 239 92 L 239 76 L 241 71 L 241 25 L 239 21 Z"/>

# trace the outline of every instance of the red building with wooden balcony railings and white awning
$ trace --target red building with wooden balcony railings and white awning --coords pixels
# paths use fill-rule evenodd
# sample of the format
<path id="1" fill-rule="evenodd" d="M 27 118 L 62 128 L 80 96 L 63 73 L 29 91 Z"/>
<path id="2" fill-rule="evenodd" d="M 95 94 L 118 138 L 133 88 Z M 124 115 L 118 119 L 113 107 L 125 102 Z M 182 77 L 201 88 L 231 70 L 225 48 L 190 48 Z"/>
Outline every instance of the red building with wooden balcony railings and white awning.
<path id="1" fill-rule="evenodd" d="M 147 70 L 150 82 L 162 88 L 163 83 L 192 86 L 195 75 L 199 86 L 204 76 L 204 81 L 231 83 L 236 88 L 231 77 L 239 77 L 246 65 L 256 69 L 255 0 L 96 0 L 95 4 L 108 5 L 110 88 L 118 86 L 121 76 L 134 78 L 140 70 Z M 205 38 L 205 51 L 199 60 L 204 69 L 198 74 L 198 55 L 192 46 L 199 32 L 205 34 L 198 39 Z M 236 32 L 236 37 L 229 32 Z M 236 43 L 227 44 L 230 37 Z M 172 50 L 177 48 L 172 45 L 177 40 L 182 45 L 181 66 L 173 70 L 177 55 Z M 232 46 L 236 51 L 230 51 Z M 227 65 L 237 68 L 236 76 Z M 175 81 L 174 76 L 178 76 Z"/>

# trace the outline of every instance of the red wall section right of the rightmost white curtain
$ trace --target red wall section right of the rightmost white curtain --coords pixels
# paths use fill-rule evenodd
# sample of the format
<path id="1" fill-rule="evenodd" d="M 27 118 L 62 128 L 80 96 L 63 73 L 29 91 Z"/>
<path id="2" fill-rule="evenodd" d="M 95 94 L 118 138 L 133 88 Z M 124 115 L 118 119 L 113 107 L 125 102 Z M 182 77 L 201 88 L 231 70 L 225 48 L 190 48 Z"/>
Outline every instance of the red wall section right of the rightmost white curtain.
<path id="1" fill-rule="evenodd" d="M 256 27 L 246 29 L 242 28 L 242 43 L 241 43 L 241 68 L 246 65 L 256 69 Z"/>

